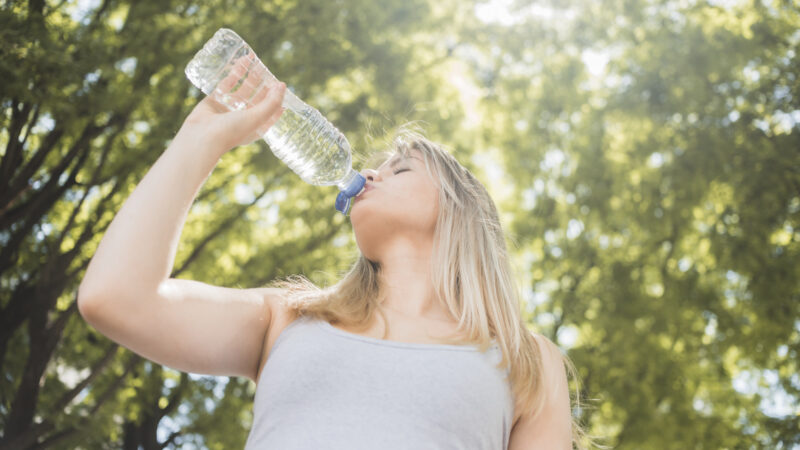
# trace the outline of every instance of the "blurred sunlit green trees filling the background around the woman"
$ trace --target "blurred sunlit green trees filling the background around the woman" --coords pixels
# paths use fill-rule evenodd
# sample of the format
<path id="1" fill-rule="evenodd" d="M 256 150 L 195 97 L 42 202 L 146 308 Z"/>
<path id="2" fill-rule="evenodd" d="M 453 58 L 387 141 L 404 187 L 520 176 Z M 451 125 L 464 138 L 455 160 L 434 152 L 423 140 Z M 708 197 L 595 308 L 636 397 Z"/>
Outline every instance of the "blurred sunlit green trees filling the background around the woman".
<path id="1" fill-rule="evenodd" d="M 75 303 L 223 26 L 357 168 L 411 123 L 475 172 L 599 443 L 800 448 L 797 0 L 30 0 L 0 2 L 0 449 L 244 445 L 254 383 L 152 364 Z M 336 192 L 226 154 L 172 276 L 334 282 Z"/>

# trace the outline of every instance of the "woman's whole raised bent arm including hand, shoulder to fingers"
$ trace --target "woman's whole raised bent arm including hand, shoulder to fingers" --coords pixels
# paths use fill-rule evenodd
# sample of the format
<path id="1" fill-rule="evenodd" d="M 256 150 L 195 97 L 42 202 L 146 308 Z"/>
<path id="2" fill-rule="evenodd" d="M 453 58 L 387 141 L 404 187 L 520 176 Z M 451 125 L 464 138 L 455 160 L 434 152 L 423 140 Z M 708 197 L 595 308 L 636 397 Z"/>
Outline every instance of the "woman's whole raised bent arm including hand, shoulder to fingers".
<path id="1" fill-rule="evenodd" d="M 252 142 L 281 112 L 285 85 L 227 111 L 205 98 L 125 201 L 78 290 L 84 319 L 166 366 L 255 379 L 275 289 L 233 289 L 170 278 L 194 199 L 223 154 Z"/>

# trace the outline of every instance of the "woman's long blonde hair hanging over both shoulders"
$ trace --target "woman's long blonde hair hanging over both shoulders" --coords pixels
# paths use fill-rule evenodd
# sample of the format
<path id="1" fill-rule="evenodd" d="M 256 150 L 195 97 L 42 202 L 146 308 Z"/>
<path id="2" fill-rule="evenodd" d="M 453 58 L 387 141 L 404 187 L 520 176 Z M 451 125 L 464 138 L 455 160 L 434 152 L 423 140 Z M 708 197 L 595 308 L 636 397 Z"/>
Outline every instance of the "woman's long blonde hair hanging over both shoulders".
<path id="1" fill-rule="evenodd" d="M 492 341 L 502 350 L 500 369 L 508 369 L 508 381 L 516 407 L 538 414 L 545 402 L 542 351 L 533 332 L 522 319 L 520 296 L 512 275 L 505 235 L 494 201 L 486 188 L 440 146 L 422 136 L 404 133 L 394 140 L 394 152 L 381 152 L 372 163 L 411 150 L 424 156 L 428 174 L 440 181 L 439 213 L 434 232 L 432 281 L 440 301 L 458 320 L 467 336 L 445 340 L 477 345 L 486 351 Z M 320 289 L 303 276 L 277 280 L 273 286 L 286 289 L 286 304 L 298 315 L 313 316 L 366 329 L 374 314 L 388 321 L 381 310 L 383 292 L 380 265 L 360 255 L 336 284 Z M 569 375 L 575 369 L 562 354 Z M 575 401 L 578 401 L 576 387 Z M 573 418 L 573 446 L 584 448 L 583 431 Z"/>

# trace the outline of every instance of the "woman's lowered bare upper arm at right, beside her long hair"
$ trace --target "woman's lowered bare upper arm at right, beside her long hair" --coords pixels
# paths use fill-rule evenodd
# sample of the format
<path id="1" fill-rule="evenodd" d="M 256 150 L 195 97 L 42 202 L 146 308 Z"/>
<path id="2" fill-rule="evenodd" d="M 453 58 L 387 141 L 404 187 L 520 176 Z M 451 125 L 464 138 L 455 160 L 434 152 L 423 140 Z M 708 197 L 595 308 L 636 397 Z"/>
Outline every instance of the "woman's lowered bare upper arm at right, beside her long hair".
<path id="1" fill-rule="evenodd" d="M 572 449 L 572 414 L 563 357 L 546 337 L 535 334 L 542 353 L 544 405 L 535 417 L 522 414 L 511 430 L 509 450 Z"/>

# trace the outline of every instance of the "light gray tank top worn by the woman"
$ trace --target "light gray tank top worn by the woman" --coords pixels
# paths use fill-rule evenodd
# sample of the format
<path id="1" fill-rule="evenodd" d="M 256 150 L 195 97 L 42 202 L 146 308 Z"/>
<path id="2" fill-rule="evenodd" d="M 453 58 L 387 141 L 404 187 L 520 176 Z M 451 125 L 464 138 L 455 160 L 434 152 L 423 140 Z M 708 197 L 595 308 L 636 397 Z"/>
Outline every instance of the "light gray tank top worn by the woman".
<path id="1" fill-rule="evenodd" d="M 300 317 L 278 336 L 246 450 L 508 447 L 514 401 L 500 347 L 394 342 Z"/>

